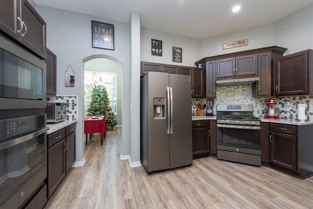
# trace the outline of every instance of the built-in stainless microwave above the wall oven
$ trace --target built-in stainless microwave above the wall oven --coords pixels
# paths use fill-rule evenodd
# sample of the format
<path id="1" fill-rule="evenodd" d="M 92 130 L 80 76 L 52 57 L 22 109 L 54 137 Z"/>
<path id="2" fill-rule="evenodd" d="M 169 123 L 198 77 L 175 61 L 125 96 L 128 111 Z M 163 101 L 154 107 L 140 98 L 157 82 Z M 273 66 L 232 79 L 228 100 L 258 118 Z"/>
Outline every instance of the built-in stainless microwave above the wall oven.
<path id="1" fill-rule="evenodd" d="M 0 109 L 45 108 L 46 64 L 0 36 Z"/>

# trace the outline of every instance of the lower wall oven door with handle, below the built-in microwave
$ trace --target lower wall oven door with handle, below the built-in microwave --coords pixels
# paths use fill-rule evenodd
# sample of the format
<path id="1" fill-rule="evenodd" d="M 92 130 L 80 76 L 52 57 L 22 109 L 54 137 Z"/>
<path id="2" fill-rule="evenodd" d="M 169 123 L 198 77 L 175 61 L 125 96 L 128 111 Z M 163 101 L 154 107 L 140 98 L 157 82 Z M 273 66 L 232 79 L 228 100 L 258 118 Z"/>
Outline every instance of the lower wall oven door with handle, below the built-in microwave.
<path id="1" fill-rule="evenodd" d="M 47 176 L 44 127 L 0 143 L 0 208 L 19 208 Z"/>

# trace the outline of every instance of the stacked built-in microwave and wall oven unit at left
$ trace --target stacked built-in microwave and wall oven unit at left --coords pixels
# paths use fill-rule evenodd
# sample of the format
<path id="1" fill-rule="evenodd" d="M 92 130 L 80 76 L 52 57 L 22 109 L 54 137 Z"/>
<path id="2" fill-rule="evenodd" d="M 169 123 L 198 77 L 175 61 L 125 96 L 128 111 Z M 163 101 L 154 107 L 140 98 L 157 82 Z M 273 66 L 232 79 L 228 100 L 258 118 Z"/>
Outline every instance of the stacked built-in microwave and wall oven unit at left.
<path id="1" fill-rule="evenodd" d="M 0 36 L 0 209 L 24 208 L 45 187 L 46 65 Z"/>

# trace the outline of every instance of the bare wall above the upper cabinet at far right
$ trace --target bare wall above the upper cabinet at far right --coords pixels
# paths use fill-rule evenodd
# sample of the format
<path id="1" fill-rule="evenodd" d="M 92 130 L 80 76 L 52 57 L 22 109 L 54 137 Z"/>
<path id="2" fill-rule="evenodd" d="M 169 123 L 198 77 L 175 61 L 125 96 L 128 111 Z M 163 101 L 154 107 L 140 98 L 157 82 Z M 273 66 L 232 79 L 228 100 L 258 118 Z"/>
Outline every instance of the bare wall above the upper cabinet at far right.
<path id="1" fill-rule="evenodd" d="M 313 49 L 313 3 L 274 23 L 274 44 L 288 48 L 284 55 Z"/>

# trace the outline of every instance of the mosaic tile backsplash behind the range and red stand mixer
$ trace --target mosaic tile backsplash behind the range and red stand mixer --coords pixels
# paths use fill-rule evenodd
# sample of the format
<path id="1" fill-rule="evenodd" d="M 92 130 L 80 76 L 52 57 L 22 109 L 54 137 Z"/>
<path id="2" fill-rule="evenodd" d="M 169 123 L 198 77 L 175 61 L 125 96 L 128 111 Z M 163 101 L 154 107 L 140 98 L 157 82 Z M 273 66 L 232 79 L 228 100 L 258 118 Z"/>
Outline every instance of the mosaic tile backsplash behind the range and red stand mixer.
<path id="1" fill-rule="evenodd" d="M 269 98 L 276 100 L 276 105 L 280 109 L 280 118 L 297 118 L 297 104 L 307 104 L 308 119 L 313 120 L 313 96 L 285 96 L 285 97 L 252 97 L 252 84 L 248 85 L 229 85 L 216 87 L 216 99 L 214 99 L 213 111 L 216 114 L 216 104 L 253 104 L 253 115 L 263 118 L 267 101 Z M 206 104 L 206 99 L 192 98 L 191 111 L 197 111 L 197 104 Z"/>

